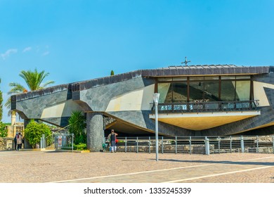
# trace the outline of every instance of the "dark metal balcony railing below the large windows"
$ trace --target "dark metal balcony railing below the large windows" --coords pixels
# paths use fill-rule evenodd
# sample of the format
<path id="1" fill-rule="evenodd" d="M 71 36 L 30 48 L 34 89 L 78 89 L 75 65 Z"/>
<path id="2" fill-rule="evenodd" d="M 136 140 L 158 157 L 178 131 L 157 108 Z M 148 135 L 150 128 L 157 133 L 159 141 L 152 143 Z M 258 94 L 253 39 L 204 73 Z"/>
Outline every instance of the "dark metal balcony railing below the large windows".
<path id="1" fill-rule="evenodd" d="M 158 113 L 191 113 L 191 112 L 218 112 L 218 111 L 243 111 L 257 110 L 259 100 L 252 101 L 209 101 L 195 100 L 182 103 L 158 103 Z M 155 105 L 152 106 L 155 113 Z"/>

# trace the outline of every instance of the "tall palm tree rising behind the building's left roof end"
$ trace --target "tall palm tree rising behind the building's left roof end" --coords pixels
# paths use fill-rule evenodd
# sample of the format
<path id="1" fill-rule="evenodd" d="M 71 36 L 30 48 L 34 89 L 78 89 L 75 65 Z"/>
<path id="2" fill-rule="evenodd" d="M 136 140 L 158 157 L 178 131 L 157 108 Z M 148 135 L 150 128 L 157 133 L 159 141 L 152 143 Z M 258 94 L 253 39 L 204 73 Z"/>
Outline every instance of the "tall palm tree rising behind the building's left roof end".
<path id="1" fill-rule="evenodd" d="M 41 72 L 38 72 L 37 69 L 35 68 L 34 71 L 32 70 L 22 70 L 19 74 L 20 77 L 22 77 L 25 80 L 25 83 L 27 84 L 27 87 L 30 91 L 34 90 L 39 90 L 39 89 L 44 89 L 48 84 L 53 84 L 53 81 L 48 81 L 42 84 L 43 80 L 45 77 L 49 75 L 48 72 L 45 72 L 42 70 Z M 11 90 L 8 91 L 8 94 L 20 94 L 27 92 L 28 89 L 22 86 L 19 83 L 11 82 L 9 84 L 11 87 Z M 5 103 L 6 108 L 8 108 L 8 115 L 11 115 L 11 97 L 8 98 L 8 101 Z"/>

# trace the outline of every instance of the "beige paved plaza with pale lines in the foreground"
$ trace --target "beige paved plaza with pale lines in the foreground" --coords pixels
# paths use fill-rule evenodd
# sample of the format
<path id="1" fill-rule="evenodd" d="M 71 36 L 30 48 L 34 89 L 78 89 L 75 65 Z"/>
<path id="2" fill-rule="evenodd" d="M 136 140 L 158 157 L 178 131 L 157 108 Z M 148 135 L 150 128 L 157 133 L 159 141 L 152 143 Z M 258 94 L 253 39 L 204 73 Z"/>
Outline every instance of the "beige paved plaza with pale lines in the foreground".
<path id="1" fill-rule="evenodd" d="M 0 151 L 0 182 L 274 183 L 274 154 Z"/>

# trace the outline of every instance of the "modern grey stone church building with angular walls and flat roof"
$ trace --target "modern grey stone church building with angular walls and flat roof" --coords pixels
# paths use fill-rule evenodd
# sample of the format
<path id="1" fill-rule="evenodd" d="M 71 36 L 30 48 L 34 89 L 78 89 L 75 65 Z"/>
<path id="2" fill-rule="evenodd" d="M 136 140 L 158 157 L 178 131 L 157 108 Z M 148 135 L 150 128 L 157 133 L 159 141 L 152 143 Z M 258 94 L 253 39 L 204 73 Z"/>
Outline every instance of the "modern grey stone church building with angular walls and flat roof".
<path id="1" fill-rule="evenodd" d="M 86 115 L 88 148 L 99 151 L 106 129 L 124 136 L 274 134 L 274 67 L 185 65 L 136 70 L 11 96 L 11 110 L 27 123 L 65 127 Z"/>

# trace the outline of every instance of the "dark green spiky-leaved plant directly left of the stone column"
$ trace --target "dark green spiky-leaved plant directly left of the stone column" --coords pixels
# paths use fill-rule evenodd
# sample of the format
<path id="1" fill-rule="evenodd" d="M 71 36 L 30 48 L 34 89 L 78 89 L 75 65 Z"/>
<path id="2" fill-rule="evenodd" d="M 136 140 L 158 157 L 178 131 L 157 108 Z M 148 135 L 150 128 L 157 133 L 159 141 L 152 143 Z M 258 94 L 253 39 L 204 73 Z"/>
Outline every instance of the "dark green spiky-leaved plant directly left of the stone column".
<path id="1" fill-rule="evenodd" d="M 69 132 L 74 134 L 75 144 L 86 143 L 86 118 L 81 111 L 74 111 L 69 120 Z"/>

